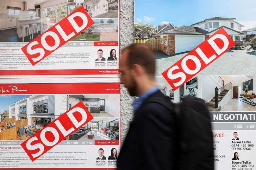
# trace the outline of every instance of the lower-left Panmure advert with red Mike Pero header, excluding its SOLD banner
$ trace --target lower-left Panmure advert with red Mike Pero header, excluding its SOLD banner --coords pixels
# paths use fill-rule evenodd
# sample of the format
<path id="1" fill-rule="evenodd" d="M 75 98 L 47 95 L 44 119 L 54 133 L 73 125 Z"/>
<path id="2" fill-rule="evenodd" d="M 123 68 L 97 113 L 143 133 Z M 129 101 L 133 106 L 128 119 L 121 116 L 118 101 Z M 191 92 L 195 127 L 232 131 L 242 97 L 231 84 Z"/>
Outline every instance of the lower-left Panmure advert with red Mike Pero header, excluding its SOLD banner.
<path id="1" fill-rule="evenodd" d="M 93 119 L 32 162 L 20 144 L 81 101 Z M 0 168 L 115 168 L 119 106 L 119 83 L 0 84 Z"/>

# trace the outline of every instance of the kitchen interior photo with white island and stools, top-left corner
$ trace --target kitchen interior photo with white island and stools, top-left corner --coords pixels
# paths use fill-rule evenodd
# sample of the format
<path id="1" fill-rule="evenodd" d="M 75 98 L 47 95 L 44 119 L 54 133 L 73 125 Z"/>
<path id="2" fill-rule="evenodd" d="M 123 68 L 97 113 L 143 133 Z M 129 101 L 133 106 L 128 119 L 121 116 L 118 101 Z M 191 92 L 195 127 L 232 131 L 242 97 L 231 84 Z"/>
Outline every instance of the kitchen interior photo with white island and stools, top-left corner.
<path id="1" fill-rule="evenodd" d="M 67 16 L 67 0 L 1 0 L 0 42 L 29 42 Z"/>

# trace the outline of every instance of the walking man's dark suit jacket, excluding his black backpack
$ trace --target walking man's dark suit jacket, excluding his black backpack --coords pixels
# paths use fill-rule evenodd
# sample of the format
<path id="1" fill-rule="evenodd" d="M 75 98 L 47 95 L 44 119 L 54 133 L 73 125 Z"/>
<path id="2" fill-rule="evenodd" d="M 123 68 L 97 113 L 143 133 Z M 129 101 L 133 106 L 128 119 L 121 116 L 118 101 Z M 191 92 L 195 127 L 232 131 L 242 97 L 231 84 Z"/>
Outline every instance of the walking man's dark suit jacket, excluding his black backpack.
<path id="1" fill-rule="evenodd" d="M 117 160 L 120 170 L 173 170 L 171 113 L 162 104 L 148 102 L 164 95 L 157 91 L 134 113 Z"/>

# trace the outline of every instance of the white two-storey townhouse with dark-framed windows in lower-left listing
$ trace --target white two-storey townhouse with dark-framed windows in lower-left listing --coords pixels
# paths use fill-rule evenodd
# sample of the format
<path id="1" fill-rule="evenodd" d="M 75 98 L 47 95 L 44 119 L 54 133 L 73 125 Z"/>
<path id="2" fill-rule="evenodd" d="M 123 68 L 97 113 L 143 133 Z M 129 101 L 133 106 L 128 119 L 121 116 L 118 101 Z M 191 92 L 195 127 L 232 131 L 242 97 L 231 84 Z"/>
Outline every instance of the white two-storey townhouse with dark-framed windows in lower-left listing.
<path id="1" fill-rule="evenodd" d="M 32 95 L 9 105 L 9 117 L 16 120 L 28 119 L 28 124 L 42 129 L 68 110 L 68 97 L 65 94 Z"/>

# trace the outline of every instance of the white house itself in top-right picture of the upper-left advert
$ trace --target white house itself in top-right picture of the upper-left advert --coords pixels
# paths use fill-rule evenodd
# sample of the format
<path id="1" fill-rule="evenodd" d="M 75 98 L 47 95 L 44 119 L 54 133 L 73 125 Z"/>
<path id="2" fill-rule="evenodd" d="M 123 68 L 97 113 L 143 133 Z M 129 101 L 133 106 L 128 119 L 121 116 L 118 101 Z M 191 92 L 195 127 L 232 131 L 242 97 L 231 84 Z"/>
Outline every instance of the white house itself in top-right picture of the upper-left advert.
<path id="1" fill-rule="evenodd" d="M 85 0 L 83 6 L 92 17 L 108 12 L 107 0 Z"/>

